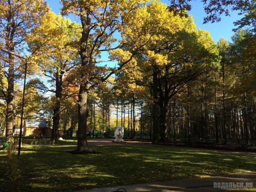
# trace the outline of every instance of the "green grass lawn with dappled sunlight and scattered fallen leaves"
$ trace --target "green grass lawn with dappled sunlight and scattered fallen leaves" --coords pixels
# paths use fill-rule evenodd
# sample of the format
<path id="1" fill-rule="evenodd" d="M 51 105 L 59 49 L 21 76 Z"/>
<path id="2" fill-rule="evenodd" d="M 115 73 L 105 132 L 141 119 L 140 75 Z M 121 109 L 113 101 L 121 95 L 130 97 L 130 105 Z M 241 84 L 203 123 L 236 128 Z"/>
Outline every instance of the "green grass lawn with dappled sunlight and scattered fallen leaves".
<path id="1" fill-rule="evenodd" d="M 23 144 L 22 174 L 8 181 L 0 151 L 0 191 L 75 191 L 256 170 L 250 153 L 201 151 L 151 144 L 90 146 L 100 154 L 72 155 L 73 143 Z"/>

